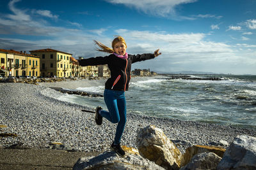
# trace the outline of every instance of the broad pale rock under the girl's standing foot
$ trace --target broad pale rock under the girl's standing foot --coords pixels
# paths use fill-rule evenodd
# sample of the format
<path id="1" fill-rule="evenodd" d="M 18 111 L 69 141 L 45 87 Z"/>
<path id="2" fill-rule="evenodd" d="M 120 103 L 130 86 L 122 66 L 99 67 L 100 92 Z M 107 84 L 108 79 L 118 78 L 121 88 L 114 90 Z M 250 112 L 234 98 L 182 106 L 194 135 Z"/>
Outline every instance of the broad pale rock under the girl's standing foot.
<path id="1" fill-rule="evenodd" d="M 134 148 L 131 150 L 135 150 Z M 138 151 L 137 151 L 138 152 Z M 147 169 L 147 170 L 164 170 L 163 167 L 157 166 L 154 162 L 144 159 L 140 155 L 126 152 L 126 157 L 120 157 L 115 152 L 104 152 L 97 157 L 83 157 L 77 160 L 73 167 L 74 170 L 81 169 Z"/>

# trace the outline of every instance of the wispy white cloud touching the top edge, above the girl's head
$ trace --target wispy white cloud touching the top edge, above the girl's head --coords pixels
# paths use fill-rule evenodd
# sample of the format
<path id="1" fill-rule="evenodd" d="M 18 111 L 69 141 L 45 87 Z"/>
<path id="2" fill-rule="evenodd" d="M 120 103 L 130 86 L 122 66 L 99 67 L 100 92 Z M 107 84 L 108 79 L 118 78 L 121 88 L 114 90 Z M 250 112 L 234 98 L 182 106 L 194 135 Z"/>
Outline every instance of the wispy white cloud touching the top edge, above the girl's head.
<path id="1" fill-rule="evenodd" d="M 106 0 L 113 4 L 124 4 L 150 15 L 161 17 L 175 16 L 175 6 L 194 3 L 197 0 Z M 184 17 L 185 18 L 185 17 Z"/>

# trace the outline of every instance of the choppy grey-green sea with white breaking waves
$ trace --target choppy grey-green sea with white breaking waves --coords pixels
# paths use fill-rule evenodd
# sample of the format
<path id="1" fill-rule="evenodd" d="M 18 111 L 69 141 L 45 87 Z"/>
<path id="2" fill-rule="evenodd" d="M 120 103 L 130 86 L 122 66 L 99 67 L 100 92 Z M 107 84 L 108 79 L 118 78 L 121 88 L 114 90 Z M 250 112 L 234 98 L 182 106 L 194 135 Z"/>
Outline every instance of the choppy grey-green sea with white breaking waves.
<path id="1" fill-rule="evenodd" d="M 171 79 L 167 75 L 132 81 L 125 92 L 127 112 L 256 128 L 256 76 L 211 75 L 222 80 L 196 76 L 203 80 Z M 104 85 L 78 90 L 103 94 Z M 66 95 L 61 100 L 107 109 L 102 97 Z"/>

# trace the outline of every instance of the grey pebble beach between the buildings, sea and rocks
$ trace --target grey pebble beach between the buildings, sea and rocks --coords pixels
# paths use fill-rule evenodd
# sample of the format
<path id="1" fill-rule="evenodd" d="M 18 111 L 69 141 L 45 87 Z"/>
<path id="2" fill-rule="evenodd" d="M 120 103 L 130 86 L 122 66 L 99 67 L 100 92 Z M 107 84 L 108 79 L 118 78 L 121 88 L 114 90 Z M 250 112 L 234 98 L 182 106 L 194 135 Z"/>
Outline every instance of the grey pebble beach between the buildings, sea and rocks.
<path id="1" fill-rule="evenodd" d="M 28 148 L 50 148 L 52 143 L 58 142 L 69 150 L 108 150 L 115 136 L 116 124 L 105 119 L 102 125 L 95 124 L 95 114 L 83 111 L 94 111 L 94 108 L 59 101 L 58 97 L 63 94 L 49 88 L 76 89 L 81 84 L 84 87 L 104 85 L 104 81 L 74 80 L 39 85 L 0 83 L 0 125 L 6 125 L 0 128 L 0 133 L 17 134 L 17 137 L 0 137 L 0 148 L 17 144 Z M 192 145 L 231 143 L 239 134 L 256 137 L 256 129 L 127 113 L 121 145 L 136 148 L 136 131 L 147 125 L 162 129 L 182 153 Z"/>

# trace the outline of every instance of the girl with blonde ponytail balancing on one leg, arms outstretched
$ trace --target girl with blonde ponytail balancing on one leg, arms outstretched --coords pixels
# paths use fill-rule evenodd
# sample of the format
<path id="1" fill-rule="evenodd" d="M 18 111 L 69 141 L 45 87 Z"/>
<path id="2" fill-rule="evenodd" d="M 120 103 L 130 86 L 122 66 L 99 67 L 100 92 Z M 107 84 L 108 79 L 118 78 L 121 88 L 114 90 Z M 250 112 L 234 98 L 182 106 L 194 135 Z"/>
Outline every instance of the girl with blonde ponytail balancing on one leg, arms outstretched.
<path id="1" fill-rule="evenodd" d="M 124 132 L 126 123 L 126 101 L 125 91 L 129 88 L 129 81 L 131 80 L 131 64 L 141 60 L 154 59 L 159 53 L 159 49 L 154 53 L 143 53 L 138 55 L 127 54 L 127 45 L 122 36 L 117 36 L 112 41 L 112 48 L 103 45 L 99 41 L 95 41 L 99 46 L 97 51 L 111 53 L 106 57 L 92 57 L 89 59 L 76 60 L 70 57 L 74 64 L 80 66 L 97 66 L 108 64 L 111 72 L 111 77 L 105 83 L 104 101 L 108 111 L 102 110 L 98 106 L 95 110 L 95 122 L 97 125 L 102 124 L 102 117 L 109 120 L 113 124 L 117 124 L 115 139 L 111 145 L 111 150 L 118 155 L 124 157 L 125 152 L 120 146 L 122 134 Z"/>

